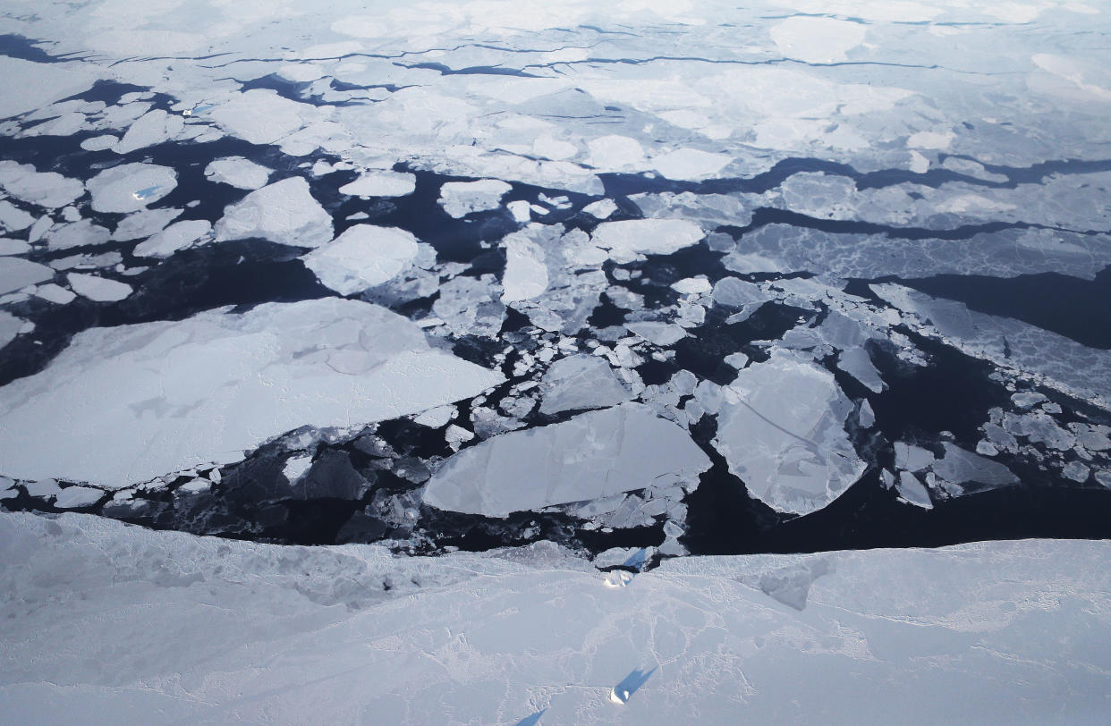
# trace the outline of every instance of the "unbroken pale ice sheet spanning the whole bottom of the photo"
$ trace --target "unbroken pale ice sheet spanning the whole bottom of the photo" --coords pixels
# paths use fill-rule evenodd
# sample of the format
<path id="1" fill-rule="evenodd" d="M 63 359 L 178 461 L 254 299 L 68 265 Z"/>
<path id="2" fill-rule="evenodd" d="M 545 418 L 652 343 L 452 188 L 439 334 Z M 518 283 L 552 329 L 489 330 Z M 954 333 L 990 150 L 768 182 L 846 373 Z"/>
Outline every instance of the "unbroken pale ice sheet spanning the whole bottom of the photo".
<path id="1" fill-rule="evenodd" d="M 654 725 L 692 704 L 703 723 L 1101 723 L 1109 573 L 1105 542 L 1028 540 L 682 557 L 609 588 L 541 547 L 394 557 L 3 513 L 0 582 L 24 606 L 0 621 L 0 703 L 20 723 Z M 655 670 L 607 703 L 634 668 Z"/>

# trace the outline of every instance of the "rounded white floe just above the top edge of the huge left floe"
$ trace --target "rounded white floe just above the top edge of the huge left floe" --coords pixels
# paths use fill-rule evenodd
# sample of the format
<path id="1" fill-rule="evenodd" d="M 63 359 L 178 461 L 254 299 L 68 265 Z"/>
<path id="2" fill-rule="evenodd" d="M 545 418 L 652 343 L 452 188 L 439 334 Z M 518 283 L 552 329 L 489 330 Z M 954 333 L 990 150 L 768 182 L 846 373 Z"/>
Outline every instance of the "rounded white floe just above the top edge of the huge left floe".
<path id="1" fill-rule="evenodd" d="M 404 230 L 356 224 L 301 259 L 321 283 L 352 295 L 392 280 L 417 253 L 417 238 Z"/>

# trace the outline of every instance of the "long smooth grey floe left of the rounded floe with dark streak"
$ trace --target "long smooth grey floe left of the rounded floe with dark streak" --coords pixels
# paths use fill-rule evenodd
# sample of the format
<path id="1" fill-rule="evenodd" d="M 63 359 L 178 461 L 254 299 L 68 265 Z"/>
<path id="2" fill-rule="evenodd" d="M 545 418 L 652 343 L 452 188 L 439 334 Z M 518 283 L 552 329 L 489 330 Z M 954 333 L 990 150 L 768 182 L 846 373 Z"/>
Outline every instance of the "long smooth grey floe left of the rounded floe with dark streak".
<path id="1" fill-rule="evenodd" d="M 709 467 L 710 458 L 682 428 L 648 406 L 627 403 L 466 448 L 436 472 L 424 502 L 450 512 L 504 517 L 691 483 Z"/>

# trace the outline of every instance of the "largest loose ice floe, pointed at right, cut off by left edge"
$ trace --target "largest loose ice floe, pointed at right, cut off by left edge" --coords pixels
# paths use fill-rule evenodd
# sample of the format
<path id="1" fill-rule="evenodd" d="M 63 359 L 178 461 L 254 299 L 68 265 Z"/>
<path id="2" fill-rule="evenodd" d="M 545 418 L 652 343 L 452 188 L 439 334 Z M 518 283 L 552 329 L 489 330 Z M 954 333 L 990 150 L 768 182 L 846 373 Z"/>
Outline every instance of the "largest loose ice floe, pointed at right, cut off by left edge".
<path id="1" fill-rule="evenodd" d="M 90 329 L 0 389 L 0 473 L 119 488 L 240 461 L 298 426 L 393 419 L 502 380 L 431 350 L 396 313 L 334 298 Z"/>

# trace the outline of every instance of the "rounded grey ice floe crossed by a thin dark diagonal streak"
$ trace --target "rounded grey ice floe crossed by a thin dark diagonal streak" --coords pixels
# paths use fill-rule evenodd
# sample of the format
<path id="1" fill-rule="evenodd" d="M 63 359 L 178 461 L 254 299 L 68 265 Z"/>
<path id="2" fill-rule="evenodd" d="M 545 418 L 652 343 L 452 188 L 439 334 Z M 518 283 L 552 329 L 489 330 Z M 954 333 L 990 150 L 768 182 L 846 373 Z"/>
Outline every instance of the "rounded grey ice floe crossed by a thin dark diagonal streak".
<path id="1" fill-rule="evenodd" d="M 825 370 L 775 351 L 741 371 L 724 392 L 714 447 L 772 508 L 809 514 L 863 473 L 844 428 L 852 402 Z"/>

